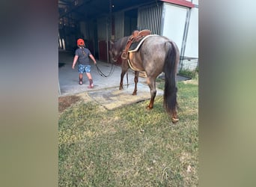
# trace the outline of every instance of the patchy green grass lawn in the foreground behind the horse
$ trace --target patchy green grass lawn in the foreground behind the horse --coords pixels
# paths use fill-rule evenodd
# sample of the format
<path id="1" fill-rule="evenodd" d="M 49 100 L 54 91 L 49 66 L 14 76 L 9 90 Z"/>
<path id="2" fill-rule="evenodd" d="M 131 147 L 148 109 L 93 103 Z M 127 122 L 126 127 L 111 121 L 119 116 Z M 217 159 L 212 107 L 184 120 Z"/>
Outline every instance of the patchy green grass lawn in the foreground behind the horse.
<path id="1" fill-rule="evenodd" d="M 59 186 L 198 186 L 198 85 L 178 83 L 176 125 L 162 96 L 151 111 L 148 102 L 113 111 L 80 102 L 64 111 Z"/>

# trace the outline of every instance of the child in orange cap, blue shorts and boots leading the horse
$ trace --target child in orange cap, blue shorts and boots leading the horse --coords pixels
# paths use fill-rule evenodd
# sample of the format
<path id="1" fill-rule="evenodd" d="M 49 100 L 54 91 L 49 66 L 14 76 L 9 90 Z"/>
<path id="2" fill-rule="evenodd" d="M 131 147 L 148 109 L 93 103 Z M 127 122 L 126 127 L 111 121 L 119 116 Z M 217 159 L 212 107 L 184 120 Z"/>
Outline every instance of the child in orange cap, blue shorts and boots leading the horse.
<path id="1" fill-rule="evenodd" d="M 91 52 L 89 49 L 85 48 L 85 41 L 82 40 L 81 38 L 79 38 L 77 40 L 77 46 L 79 47 L 79 49 L 76 49 L 76 55 L 73 59 L 73 65 L 72 68 L 73 70 L 75 69 L 75 65 L 76 62 L 78 61 L 79 64 L 79 85 L 82 85 L 82 75 L 83 73 L 86 73 L 86 76 L 88 76 L 90 85 L 88 86 L 88 88 L 94 88 L 94 83 L 91 77 L 91 66 L 90 66 L 90 61 L 89 58 L 91 58 L 91 60 L 94 61 L 94 64 L 97 64 L 95 61 L 95 58 L 93 55 L 91 55 Z"/>

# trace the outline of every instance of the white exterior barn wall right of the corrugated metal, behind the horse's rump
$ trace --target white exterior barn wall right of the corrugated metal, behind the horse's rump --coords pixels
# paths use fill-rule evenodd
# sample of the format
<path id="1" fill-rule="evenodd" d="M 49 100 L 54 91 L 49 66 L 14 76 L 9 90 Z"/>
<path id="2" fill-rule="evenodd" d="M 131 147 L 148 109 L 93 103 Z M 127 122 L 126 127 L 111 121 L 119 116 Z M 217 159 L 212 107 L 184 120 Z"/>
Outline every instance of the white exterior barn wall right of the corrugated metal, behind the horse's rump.
<path id="1" fill-rule="evenodd" d="M 161 26 L 161 34 L 174 40 L 180 49 L 179 70 L 195 70 L 198 67 L 198 4 L 186 7 L 164 2 Z"/>

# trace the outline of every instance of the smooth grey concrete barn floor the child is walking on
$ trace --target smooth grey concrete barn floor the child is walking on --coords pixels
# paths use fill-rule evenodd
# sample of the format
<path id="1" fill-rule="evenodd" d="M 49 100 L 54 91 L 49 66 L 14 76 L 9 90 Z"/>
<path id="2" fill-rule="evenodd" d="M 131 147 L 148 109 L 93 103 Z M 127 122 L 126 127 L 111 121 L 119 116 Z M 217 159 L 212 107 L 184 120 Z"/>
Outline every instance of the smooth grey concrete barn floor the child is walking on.
<path id="1" fill-rule="evenodd" d="M 67 96 L 76 93 L 82 93 L 87 91 L 97 91 L 104 88 L 114 88 L 119 87 L 120 76 L 121 76 L 121 67 L 113 65 L 114 71 L 111 76 L 103 77 L 97 72 L 97 67 L 91 61 L 91 76 L 94 80 L 94 88 L 87 88 L 89 85 L 88 78 L 84 74 L 83 85 L 79 85 L 79 73 L 77 71 L 77 65 L 75 70 L 72 69 L 73 64 L 73 54 L 70 52 L 59 52 L 59 64 L 61 67 L 58 68 L 58 81 L 59 81 L 59 92 L 60 96 Z M 108 75 L 112 69 L 112 64 L 98 61 L 97 66 L 100 70 Z M 134 72 L 128 70 L 128 84 L 132 84 L 134 81 Z M 145 82 L 145 78 L 139 78 L 139 82 Z M 127 85 L 127 77 L 124 77 L 124 86 Z"/>

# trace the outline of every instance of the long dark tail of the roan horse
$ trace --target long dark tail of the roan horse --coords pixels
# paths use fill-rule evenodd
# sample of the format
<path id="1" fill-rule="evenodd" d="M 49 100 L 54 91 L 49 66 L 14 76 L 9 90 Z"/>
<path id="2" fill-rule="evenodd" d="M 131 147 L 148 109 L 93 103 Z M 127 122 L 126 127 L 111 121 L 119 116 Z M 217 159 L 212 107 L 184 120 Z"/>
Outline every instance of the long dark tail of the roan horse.
<path id="1" fill-rule="evenodd" d="M 167 52 L 163 72 L 165 73 L 164 107 L 172 117 L 177 118 L 177 65 L 180 60 L 180 51 L 173 41 L 165 43 Z"/>

